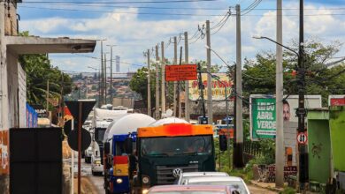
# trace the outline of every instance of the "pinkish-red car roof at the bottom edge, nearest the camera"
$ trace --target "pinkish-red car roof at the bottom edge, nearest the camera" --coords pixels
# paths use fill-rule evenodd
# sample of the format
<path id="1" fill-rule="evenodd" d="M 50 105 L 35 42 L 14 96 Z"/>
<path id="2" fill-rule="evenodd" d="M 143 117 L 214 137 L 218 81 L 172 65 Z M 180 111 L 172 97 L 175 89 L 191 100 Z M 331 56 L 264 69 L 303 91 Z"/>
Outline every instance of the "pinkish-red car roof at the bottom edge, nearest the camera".
<path id="1" fill-rule="evenodd" d="M 225 185 L 162 185 L 154 186 L 149 189 L 149 191 L 228 191 L 231 187 Z"/>

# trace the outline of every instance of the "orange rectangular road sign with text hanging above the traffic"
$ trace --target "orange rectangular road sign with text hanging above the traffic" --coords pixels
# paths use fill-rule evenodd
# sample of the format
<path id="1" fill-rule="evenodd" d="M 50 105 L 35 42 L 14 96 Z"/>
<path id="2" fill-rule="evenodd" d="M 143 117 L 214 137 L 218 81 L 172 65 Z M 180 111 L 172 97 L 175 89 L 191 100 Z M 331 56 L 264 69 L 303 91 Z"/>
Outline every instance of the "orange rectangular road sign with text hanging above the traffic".
<path id="1" fill-rule="evenodd" d="M 165 81 L 196 79 L 196 64 L 165 65 Z"/>

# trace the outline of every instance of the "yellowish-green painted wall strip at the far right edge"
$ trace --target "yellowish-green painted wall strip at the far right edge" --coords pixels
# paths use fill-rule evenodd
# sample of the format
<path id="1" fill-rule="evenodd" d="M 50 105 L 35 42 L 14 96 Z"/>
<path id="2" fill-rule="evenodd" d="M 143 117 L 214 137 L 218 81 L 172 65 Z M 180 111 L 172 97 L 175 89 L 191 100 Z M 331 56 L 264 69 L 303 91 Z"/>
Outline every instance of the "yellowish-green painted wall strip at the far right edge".
<path id="1" fill-rule="evenodd" d="M 329 125 L 334 160 L 334 171 L 345 172 L 345 106 L 330 107 Z"/>

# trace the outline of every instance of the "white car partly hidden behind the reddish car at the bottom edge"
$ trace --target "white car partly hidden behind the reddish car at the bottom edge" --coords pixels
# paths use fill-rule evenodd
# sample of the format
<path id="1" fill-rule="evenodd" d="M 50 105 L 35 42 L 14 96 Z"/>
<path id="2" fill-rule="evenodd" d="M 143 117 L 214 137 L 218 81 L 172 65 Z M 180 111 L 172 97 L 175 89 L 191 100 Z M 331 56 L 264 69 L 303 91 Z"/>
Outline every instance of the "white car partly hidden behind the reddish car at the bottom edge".
<path id="1" fill-rule="evenodd" d="M 226 185 L 234 187 L 241 194 L 250 194 L 249 189 L 240 177 L 236 176 L 204 176 L 188 178 L 184 184 L 188 185 Z"/>

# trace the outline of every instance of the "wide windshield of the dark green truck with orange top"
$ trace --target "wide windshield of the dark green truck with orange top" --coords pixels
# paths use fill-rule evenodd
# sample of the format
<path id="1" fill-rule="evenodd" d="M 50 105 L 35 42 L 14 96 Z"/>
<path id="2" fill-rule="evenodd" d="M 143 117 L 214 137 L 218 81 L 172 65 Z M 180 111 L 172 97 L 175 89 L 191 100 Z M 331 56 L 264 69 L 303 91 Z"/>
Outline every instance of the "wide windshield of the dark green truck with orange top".
<path id="1" fill-rule="evenodd" d="M 142 156 L 211 154 L 211 136 L 142 138 Z"/>

